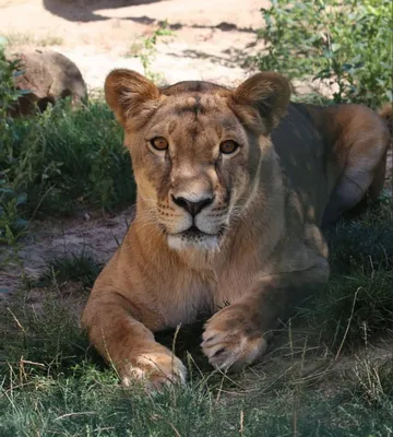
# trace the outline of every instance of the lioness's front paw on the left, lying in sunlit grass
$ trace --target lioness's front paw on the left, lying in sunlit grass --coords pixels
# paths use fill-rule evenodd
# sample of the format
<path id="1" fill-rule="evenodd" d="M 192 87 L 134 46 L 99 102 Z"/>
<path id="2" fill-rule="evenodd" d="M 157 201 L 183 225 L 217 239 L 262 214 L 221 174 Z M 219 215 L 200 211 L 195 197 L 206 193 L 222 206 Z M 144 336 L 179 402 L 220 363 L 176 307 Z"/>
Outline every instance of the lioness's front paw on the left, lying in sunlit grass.
<path id="1" fill-rule="evenodd" d="M 120 376 L 124 386 L 143 380 L 148 388 L 159 390 L 166 385 L 184 383 L 187 369 L 169 350 L 158 345 L 130 359 L 122 366 Z"/>

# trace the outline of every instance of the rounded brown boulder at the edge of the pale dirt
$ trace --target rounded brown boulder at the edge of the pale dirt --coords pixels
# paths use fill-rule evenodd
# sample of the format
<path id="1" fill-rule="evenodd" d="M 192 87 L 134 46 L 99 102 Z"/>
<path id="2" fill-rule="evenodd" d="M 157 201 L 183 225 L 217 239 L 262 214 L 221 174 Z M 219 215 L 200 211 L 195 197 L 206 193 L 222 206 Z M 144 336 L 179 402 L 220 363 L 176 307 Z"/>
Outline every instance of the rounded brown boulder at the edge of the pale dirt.
<path id="1" fill-rule="evenodd" d="M 45 110 L 49 103 L 56 104 L 64 97 L 71 97 L 72 106 L 87 99 L 87 88 L 79 68 L 66 56 L 53 50 L 29 50 L 7 56 L 9 61 L 20 60 L 14 79 L 17 90 L 31 93 L 19 98 L 12 116 L 28 115 L 34 104 Z"/>

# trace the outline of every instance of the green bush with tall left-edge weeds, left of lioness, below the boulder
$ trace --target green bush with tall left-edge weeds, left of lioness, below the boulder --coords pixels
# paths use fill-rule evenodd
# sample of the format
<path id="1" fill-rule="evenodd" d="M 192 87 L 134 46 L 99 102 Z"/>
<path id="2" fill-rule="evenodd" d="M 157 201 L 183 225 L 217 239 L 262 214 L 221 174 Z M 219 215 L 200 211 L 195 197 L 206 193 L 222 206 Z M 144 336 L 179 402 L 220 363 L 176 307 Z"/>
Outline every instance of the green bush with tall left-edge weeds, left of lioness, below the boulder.
<path id="1" fill-rule="evenodd" d="M 0 243 L 8 244 L 22 235 L 24 218 L 79 206 L 110 210 L 135 194 L 130 156 L 107 105 L 93 99 L 72 110 L 64 101 L 11 118 L 17 97 L 28 93 L 13 88 L 21 73 L 0 48 Z"/>

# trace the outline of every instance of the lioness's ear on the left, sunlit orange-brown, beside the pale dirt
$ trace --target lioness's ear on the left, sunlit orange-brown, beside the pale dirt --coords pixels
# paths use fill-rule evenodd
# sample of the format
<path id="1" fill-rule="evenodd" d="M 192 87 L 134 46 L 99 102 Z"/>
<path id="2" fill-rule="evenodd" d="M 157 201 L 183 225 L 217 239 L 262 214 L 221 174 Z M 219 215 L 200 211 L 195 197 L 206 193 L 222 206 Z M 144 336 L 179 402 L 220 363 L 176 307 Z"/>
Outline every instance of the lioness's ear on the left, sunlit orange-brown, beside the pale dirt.
<path id="1" fill-rule="evenodd" d="M 159 91 L 142 74 L 118 69 L 111 71 L 105 81 L 105 98 L 124 127 L 132 118 L 145 119 L 151 115 L 158 105 Z"/>

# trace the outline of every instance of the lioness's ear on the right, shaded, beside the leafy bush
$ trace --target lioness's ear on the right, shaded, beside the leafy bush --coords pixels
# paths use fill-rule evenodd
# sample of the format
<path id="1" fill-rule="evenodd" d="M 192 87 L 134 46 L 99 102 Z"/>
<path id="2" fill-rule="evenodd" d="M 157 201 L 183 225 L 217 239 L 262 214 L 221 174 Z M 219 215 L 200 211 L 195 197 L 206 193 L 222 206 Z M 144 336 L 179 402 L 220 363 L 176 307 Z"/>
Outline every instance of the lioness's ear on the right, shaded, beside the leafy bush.
<path id="1" fill-rule="evenodd" d="M 281 74 L 266 71 L 251 76 L 239 85 L 233 98 L 238 107 L 240 105 L 246 123 L 260 128 L 263 125 L 270 132 L 286 113 L 290 98 L 290 84 Z"/>

